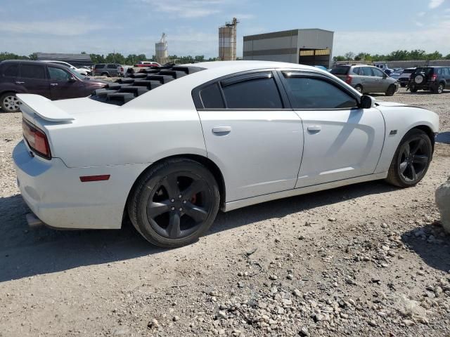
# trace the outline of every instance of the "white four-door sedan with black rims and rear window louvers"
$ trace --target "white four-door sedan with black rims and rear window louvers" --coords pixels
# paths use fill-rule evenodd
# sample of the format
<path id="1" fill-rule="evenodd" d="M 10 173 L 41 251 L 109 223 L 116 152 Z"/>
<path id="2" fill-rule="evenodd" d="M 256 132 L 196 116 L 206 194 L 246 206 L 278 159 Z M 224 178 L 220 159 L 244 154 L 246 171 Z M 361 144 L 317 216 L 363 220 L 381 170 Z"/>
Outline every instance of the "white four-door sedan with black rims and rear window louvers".
<path id="1" fill-rule="evenodd" d="M 13 151 L 30 223 L 117 229 L 189 244 L 219 209 L 386 179 L 416 185 L 439 118 L 281 62 L 148 70 L 89 98 L 19 94 Z"/>

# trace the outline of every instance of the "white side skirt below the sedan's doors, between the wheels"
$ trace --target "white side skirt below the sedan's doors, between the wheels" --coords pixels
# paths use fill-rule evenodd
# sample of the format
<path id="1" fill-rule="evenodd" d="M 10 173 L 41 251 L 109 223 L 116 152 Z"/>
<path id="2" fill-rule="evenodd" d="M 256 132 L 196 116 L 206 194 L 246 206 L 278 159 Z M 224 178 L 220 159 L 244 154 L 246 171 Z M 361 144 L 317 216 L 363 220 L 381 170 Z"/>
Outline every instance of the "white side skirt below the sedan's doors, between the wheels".
<path id="1" fill-rule="evenodd" d="M 333 181 L 331 183 L 312 185 L 312 186 L 307 186 L 307 187 L 300 187 L 300 188 L 295 188 L 293 190 L 287 190 L 287 191 L 276 192 L 276 193 L 271 193 L 271 194 L 264 194 L 264 195 L 259 195 L 257 197 L 240 199 L 240 200 L 236 200 L 236 201 L 230 201 L 225 204 L 225 207 L 224 207 L 224 209 L 222 209 L 222 211 L 224 211 L 224 212 L 233 211 L 233 209 L 240 209 L 242 207 L 246 207 L 246 206 L 250 206 L 250 205 L 261 204 L 262 202 L 266 202 L 266 201 L 282 199 L 282 198 L 287 198 L 287 197 L 294 197 L 295 195 L 307 194 L 307 193 L 311 193 L 311 192 L 319 192 L 319 191 L 323 191 L 323 190 L 329 190 L 330 188 L 341 187 L 341 186 L 345 186 L 345 185 L 364 183 L 364 182 L 370 181 L 370 180 L 385 179 L 386 177 L 387 177 L 387 172 L 382 172 L 382 173 L 370 174 L 368 176 L 349 178 L 349 179 L 344 179 L 344 180 Z"/>

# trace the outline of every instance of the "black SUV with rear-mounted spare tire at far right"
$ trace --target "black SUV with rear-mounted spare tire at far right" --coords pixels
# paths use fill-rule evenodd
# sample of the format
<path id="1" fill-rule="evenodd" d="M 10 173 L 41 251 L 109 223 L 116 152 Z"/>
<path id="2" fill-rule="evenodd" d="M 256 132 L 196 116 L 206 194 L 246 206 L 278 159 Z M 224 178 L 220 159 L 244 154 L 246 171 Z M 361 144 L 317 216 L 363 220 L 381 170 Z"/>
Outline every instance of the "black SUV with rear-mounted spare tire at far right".
<path id="1" fill-rule="evenodd" d="M 408 88 L 411 93 L 418 90 L 443 93 L 450 88 L 450 67 L 418 67 L 409 78 Z"/>

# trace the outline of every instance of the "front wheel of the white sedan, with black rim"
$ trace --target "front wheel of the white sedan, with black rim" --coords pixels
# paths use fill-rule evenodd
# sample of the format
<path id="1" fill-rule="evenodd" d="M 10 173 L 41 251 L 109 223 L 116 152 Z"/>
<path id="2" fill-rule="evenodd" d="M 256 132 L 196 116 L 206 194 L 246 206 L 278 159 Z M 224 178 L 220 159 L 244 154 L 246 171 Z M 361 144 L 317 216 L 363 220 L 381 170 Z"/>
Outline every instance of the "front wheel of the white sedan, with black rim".
<path id="1" fill-rule="evenodd" d="M 422 130 L 413 128 L 401 139 L 386 181 L 398 187 L 415 186 L 427 173 L 431 159 L 430 137 Z"/>

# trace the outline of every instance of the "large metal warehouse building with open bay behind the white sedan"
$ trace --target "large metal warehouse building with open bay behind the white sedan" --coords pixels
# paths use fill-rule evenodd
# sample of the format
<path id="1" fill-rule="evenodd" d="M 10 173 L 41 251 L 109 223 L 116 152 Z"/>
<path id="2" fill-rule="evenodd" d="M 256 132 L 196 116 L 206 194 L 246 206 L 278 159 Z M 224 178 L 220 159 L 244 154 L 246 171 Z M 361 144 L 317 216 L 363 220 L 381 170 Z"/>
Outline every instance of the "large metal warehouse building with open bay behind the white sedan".
<path id="1" fill-rule="evenodd" d="M 293 29 L 244 37 L 244 60 L 266 60 L 331 67 L 334 32 Z"/>

